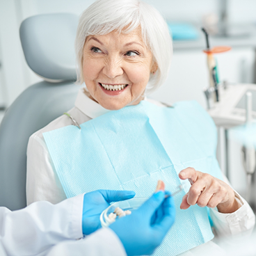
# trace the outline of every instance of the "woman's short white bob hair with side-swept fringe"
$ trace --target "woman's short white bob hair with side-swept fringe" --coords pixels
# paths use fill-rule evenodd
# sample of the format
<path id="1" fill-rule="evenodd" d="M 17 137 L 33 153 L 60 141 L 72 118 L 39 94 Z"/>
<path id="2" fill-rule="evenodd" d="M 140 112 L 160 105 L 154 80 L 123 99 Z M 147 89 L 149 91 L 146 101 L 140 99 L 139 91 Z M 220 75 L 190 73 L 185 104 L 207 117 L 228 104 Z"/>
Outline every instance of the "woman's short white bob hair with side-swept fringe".
<path id="1" fill-rule="evenodd" d="M 158 69 L 150 74 L 146 94 L 159 88 L 168 76 L 173 44 L 168 26 L 154 7 L 139 0 L 97 0 L 83 11 L 77 27 L 77 83 L 83 83 L 83 46 L 88 35 L 106 35 L 111 31 L 130 33 L 141 26 L 145 45 Z"/>

